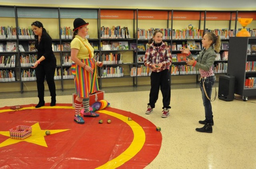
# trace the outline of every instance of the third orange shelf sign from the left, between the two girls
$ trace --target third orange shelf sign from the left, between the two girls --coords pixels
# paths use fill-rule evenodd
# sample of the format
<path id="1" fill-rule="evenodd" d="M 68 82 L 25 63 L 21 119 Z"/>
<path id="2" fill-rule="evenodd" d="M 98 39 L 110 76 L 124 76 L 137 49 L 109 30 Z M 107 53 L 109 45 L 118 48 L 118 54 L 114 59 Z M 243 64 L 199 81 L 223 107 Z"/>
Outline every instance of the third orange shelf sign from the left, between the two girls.
<path id="1" fill-rule="evenodd" d="M 172 12 L 170 12 L 170 19 L 172 19 Z M 173 20 L 200 20 L 199 12 L 173 12 Z"/>

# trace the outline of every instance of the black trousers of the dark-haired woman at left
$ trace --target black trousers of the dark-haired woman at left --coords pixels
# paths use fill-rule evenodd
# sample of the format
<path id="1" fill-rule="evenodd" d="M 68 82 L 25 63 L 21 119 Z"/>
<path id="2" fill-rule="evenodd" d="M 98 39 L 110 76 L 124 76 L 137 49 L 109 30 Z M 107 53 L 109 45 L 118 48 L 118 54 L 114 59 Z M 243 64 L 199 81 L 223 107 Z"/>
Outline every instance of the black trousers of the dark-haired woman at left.
<path id="1" fill-rule="evenodd" d="M 39 100 L 44 100 L 44 79 L 48 84 L 50 95 L 56 96 L 56 87 L 54 83 L 54 73 L 56 69 L 56 63 L 39 64 L 36 67 L 36 83 Z"/>

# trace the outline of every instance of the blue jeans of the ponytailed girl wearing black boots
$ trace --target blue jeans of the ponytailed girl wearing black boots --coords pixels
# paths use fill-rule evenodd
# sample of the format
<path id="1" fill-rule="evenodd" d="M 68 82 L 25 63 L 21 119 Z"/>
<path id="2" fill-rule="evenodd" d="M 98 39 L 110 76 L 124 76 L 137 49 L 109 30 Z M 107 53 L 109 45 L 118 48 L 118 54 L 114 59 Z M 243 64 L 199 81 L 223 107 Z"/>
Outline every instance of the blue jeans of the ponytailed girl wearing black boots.
<path id="1" fill-rule="evenodd" d="M 206 94 L 204 92 L 203 81 L 204 81 L 204 88 L 206 90 L 206 93 L 208 97 L 211 99 L 212 86 L 216 81 L 216 77 L 214 75 L 211 77 L 206 77 L 205 80 L 203 78 L 200 80 L 200 90 L 202 92 L 202 99 L 204 104 L 205 122 L 210 123 L 213 121 L 212 120 L 212 104 L 211 104 L 211 101 L 206 97 Z"/>

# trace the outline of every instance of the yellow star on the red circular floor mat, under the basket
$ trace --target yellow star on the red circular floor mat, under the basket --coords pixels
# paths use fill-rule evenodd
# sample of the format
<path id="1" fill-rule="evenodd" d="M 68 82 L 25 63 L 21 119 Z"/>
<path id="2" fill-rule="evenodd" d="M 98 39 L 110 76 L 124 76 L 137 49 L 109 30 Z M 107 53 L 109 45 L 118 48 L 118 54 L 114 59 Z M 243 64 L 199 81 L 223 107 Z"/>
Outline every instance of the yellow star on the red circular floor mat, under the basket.
<path id="1" fill-rule="evenodd" d="M 24 140 L 17 140 L 17 139 L 8 138 L 7 140 L 0 143 L 0 147 L 4 147 L 4 146 L 7 146 L 7 145 L 19 143 L 21 141 L 26 141 L 28 143 L 34 143 L 34 144 L 38 144 L 38 145 L 47 147 L 47 143 L 44 139 L 44 136 L 46 136 L 45 132 L 47 130 L 41 130 L 38 122 L 36 124 L 32 125 L 31 127 L 32 127 L 32 136 L 29 136 L 28 138 L 25 138 Z M 48 130 L 48 131 L 50 131 L 51 134 L 56 134 L 56 133 L 64 132 L 66 130 L 70 130 L 70 129 Z M 0 134 L 2 134 L 4 136 L 7 136 L 7 137 L 10 137 L 10 132 L 9 131 L 0 131 Z"/>

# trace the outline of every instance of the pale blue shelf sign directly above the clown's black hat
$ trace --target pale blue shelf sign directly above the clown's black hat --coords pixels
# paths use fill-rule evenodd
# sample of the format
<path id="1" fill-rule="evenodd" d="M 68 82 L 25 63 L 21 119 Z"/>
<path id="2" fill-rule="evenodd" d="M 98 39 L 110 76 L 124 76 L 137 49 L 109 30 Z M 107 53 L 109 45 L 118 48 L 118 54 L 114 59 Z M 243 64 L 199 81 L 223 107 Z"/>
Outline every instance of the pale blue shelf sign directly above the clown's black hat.
<path id="1" fill-rule="evenodd" d="M 97 19 L 97 10 L 77 10 L 77 9 L 61 9 L 60 18 L 73 19 L 73 18 L 86 18 Z"/>

